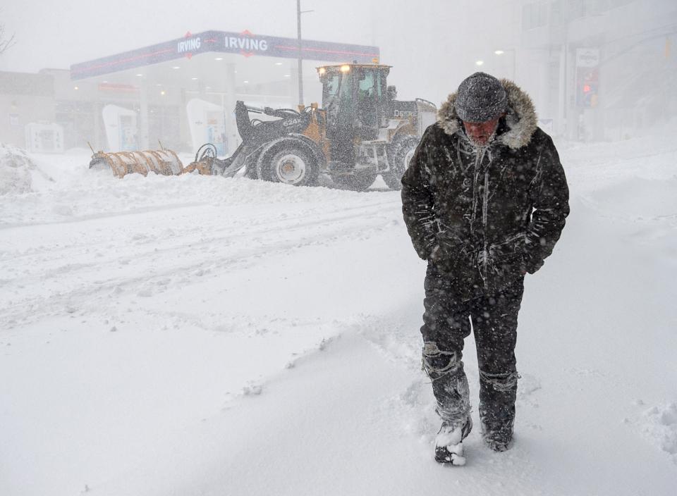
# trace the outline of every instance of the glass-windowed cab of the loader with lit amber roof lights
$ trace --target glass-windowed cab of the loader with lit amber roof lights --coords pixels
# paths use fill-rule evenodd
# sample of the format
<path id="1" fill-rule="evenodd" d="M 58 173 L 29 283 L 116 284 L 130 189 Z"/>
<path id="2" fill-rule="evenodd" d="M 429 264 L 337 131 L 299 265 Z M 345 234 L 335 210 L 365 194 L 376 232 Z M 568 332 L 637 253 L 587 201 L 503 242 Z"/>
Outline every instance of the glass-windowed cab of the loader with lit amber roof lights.
<path id="1" fill-rule="evenodd" d="M 354 162 L 355 141 L 375 140 L 379 128 L 386 127 L 391 106 L 386 83 L 390 67 L 353 63 L 317 68 L 332 158 Z"/>

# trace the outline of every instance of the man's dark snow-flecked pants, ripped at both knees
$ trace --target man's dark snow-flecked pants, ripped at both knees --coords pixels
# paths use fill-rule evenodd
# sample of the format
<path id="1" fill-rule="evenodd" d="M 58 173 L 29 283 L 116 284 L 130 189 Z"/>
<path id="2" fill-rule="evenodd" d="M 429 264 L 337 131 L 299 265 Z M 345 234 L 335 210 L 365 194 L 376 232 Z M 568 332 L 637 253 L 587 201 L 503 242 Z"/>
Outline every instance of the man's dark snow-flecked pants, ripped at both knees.
<path id="1" fill-rule="evenodd" d="M 507 444 L 513 434 L 517 397 L 517 316 L 524 278 L 498 292 L 462 301 L 448 278 L 429 270 L 425 279 L 423 368 L 432 380 L 437 413 L 462 426 L 470 416 L 463 341 L 472 329 L 480 368 L 480 420 L 484 440 Z M 470 321 L 472 321 L 472 328 Z"/>

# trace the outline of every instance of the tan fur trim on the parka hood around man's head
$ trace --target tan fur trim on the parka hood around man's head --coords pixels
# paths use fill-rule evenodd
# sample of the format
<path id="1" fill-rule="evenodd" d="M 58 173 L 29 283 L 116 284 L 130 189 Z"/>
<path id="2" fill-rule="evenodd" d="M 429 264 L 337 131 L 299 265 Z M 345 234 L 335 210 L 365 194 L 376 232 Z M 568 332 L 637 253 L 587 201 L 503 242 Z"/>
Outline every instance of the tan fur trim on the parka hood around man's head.
<path id="1" fill-rule="evenodd" d="M 508 130 L 496 137 L 496 140 L 512 149 L 525 147 L 538 127 L 538 118 L 534 104 L 518 85 L 511 80 L 503 79 L 501 84 L 508 93 L 508 110 L 506 125 Z M 455 135 L 461 130 L 461 119 L 458 118 L 454 102 L 456 92 L 449 94 L 437 112 L 437 123 L 447 135 Z"/>

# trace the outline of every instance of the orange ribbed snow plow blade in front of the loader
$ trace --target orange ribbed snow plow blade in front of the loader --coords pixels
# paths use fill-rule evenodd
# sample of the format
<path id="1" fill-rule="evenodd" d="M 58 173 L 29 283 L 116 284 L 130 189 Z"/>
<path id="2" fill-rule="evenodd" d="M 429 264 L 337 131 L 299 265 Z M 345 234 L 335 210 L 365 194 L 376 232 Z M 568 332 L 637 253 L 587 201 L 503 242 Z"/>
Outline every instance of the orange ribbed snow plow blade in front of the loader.
<path id="1" fill-rule="evenodd" d="M 110 169 L 116 178 L 138 173 L 161 175 L 183 173 L 183 163 L 172 150 L 118 151 L 105 153 L 97 151 L 90 161 L 90 169 Z"/>

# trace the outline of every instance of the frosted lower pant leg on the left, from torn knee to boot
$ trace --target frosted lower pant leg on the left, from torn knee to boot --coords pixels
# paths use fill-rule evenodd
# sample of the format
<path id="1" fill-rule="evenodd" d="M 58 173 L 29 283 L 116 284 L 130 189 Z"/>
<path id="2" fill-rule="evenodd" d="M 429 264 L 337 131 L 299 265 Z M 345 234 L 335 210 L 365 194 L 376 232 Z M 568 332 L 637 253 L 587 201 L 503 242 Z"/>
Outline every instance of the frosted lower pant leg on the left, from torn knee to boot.
<path id="1" fill-rule="evenodd" d="M 437 414 L 444 423 L 463 426 L 470 416 L 470 391 L 461 352 L 447 352 L 439 349 L 436 342 L 425 342 L 423 369 L 432 380 Z"/>

